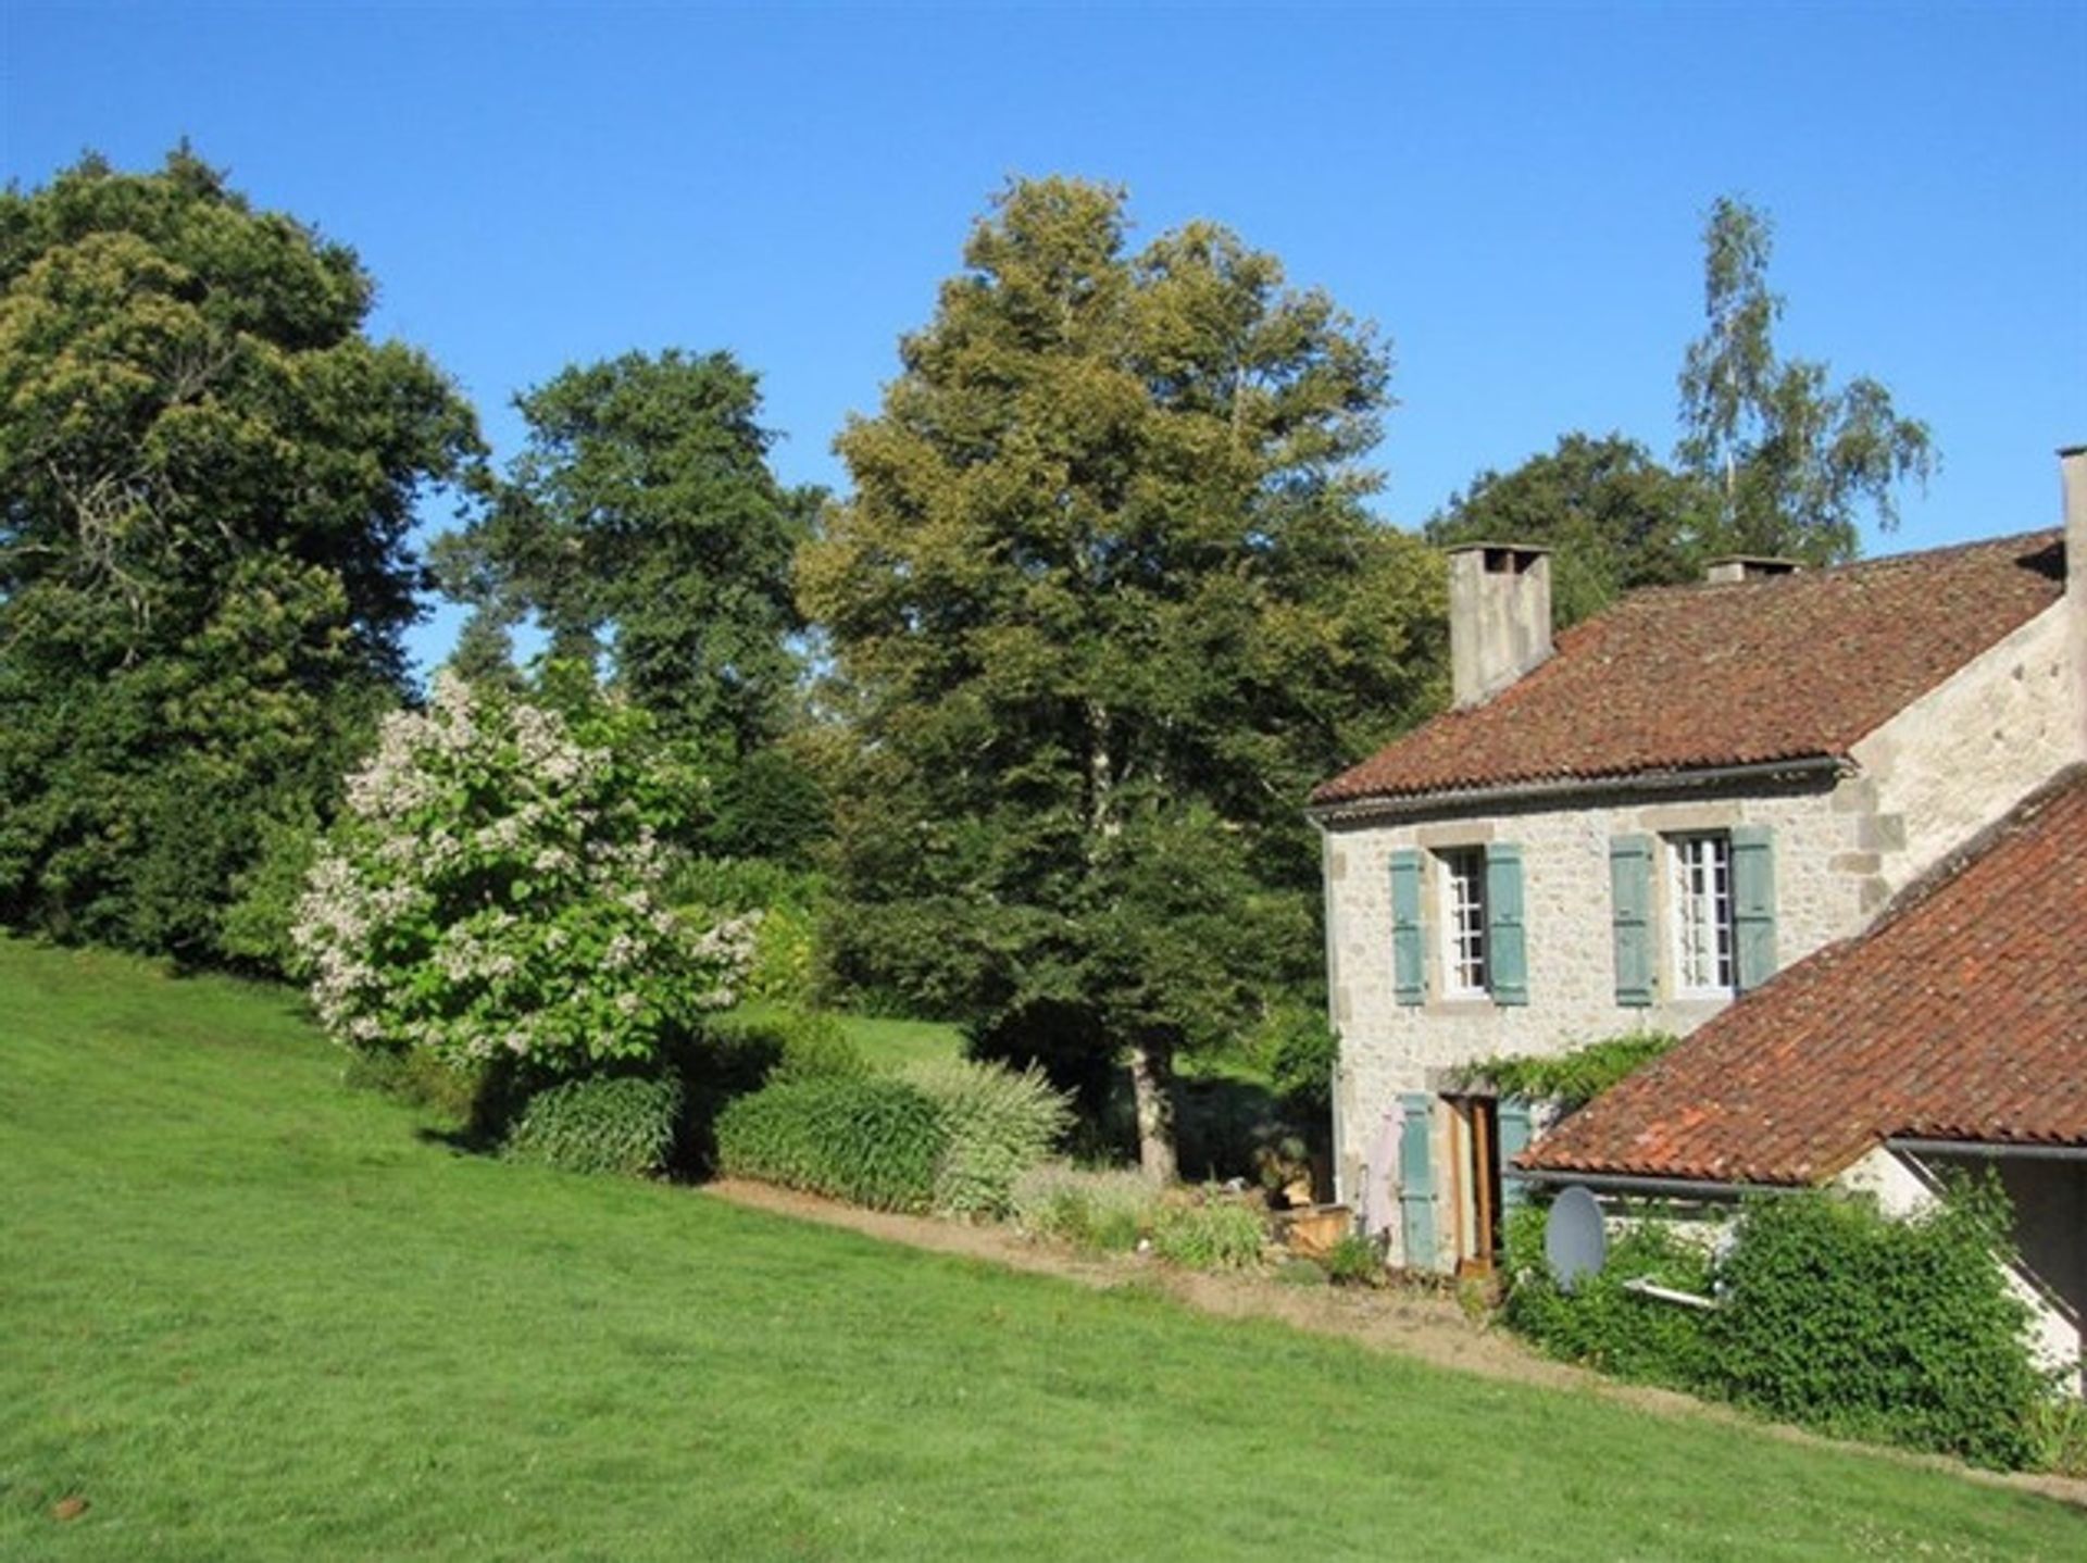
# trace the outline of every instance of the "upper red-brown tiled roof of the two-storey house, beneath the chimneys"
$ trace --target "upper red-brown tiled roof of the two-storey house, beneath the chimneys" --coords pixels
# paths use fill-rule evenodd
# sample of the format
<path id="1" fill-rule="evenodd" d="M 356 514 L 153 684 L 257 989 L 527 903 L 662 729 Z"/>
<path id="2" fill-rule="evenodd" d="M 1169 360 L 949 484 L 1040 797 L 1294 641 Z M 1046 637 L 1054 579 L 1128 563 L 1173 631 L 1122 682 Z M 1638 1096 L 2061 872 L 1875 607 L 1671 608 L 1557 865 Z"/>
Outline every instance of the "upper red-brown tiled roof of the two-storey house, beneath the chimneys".
<path id="1" fill-rule="evenodd" d="M 2062 593 L 2058 530 L 1632 593 L 1313 803 L 1845 755 Z"/>

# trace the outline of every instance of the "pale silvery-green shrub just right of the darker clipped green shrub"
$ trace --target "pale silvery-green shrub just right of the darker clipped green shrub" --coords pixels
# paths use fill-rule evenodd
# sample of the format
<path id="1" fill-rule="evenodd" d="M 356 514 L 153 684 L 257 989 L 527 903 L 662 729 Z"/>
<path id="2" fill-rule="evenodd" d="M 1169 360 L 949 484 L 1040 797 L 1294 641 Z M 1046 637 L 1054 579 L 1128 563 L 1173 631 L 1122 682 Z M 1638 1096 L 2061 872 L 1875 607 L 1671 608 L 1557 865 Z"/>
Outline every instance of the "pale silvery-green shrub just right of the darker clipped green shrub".
<path id="1" fill-rule="evenodd" d="M 1041 1071 L 950 1058 L 906 1073 L 941 1114 L 947 1148 L 935 1173 L 935 1208 L 956 1217 L 1014 1215 L 1014 1183 L 1044 1162 L 1073 1108 Z"/>

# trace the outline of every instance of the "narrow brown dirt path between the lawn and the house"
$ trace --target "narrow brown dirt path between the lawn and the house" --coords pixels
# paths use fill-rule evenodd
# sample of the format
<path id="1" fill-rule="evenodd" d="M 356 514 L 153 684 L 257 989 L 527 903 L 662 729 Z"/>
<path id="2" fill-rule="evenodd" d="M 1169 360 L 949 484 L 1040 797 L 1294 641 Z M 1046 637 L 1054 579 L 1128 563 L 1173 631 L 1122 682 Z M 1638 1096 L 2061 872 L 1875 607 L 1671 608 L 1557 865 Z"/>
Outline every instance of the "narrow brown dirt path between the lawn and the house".
<path id="1" fill-rule="evenodd" d="M 845 1227 L 868 1237 L 881 1237 L 910 1248 L 927 1248 L 937 1254 L 960 1258 L 981 1258 L 1033 1275 L 1056 1275 L 1066 1281 L 1106 1290 L 1137 1281 L 1156 1288 L 1177 1302 L 1225 1319 L 1277 1319 L 1296 1329 L 1317 1336 L 1338 1336 L 1354 1340 L 1373 1350 L 1417 1356 L 1436 1367 L 1450 1367 L 1465 1373 L 1482 1373 L 1492 1379 L 1513 1384 L 1540 1384 L 1576 1394 L 1592 1394 L 1617 1404 L 1638 1406 L 1676 1417 L 1709 1417 L 1713 1421 L 1745 1425 L 1776 1438 L 1805 1444 L 1834 1444 L 1834 1440 L 1807 1434 L 1801 1427 L 1782 1427 L 1755 1421 L 1730 1406 L 1697 1400 L 1674 1390 L 1655 1390 L 1642 1384 L 1617 1384 L 1599 1373 L 1565 1363 L 1553 1363 L 1534 1354 L 1513 1336 L 1484 1323 L 1473 1323 L 1453 1298 L 1413 1290 L 1369 1292 L 1361 1288 L 1332 1285 L 1284 1285 L 1261 1275 L 1206 1275 L 1162 1265 L 1146 1256 L 1089 1256 L 1060 1244 L 1025 1237 L 1008 1227 L 973 1227 L 960 1221 L 935 1217 L 899 1217 L 885 1210 L 862 1210 L 851 1204 L 837 1204 L 812 1194 L 770 1187 L 766 1183 L 743 1183 L 720 1179 L 705 1183 L 701 1194 L 726 1200 L 749 1210 L 816 1221 L 826 1227 Z M 1851 1448 L 1849 1444 L 1834 1444 Z M 2087 1509 L 2087 1482 L 2041 1473 L 1995 1473 L 1978 1471 L 1958 1461 L 1910 1454 L 1903 1450 L 1870 1450 L 1878 1459 L 1924 1465 L 1937 1471 L 1985 1482 L 1991 1486 L 2037 1492 L 2047 1498 Z"/>

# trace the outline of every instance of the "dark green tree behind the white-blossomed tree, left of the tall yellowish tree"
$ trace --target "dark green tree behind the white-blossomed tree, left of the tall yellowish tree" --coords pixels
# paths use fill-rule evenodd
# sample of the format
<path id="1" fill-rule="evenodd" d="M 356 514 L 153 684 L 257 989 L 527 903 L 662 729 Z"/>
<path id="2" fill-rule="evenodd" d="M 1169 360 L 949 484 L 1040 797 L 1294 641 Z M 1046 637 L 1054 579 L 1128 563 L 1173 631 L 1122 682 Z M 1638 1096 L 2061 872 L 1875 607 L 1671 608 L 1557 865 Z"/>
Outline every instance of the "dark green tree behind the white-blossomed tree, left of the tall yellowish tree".
<path id="1" fill-rule="evenodd" d="M 528 444 L 499 501 L 438 543 L 470 649 L 534 614 L 557 657 L 599 662 L 680 741 L 720 760 L 785 724 L 801 628 L 791 555 L 812 490 L 768 467 L 760 382 L 728 353 L 626 353 L 515 399 Z"/>

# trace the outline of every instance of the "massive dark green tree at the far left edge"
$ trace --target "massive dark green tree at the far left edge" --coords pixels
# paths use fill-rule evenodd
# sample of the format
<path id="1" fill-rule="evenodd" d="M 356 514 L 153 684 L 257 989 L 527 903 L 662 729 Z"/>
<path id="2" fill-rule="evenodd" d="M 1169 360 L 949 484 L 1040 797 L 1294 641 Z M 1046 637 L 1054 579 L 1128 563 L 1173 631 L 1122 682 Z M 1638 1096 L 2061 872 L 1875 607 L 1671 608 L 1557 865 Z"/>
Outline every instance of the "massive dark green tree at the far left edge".
<path id="1" fill-rule="evenodd" d="M 397 697 L 478 436 L 371 292 L 188 148 L 0 194 L 0 920 L 209 958 Z"/>

